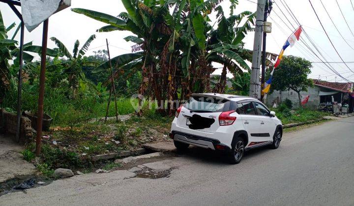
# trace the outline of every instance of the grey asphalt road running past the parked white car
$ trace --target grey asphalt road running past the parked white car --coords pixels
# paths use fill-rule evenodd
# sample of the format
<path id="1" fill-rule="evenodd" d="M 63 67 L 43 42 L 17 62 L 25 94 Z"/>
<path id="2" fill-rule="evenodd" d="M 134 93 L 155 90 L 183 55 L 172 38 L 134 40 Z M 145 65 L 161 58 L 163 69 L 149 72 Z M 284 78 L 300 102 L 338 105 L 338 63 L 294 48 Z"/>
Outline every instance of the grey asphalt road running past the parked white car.
<path id="1" fill-rule="evenodd" d="M 176 167 L 170 177 L 81 175 L 0 205 L 354 205 L 354 117 L 285 133 L 277 150 L 250 151 L 237 165 L 197 148 L 160 163 Z"/>

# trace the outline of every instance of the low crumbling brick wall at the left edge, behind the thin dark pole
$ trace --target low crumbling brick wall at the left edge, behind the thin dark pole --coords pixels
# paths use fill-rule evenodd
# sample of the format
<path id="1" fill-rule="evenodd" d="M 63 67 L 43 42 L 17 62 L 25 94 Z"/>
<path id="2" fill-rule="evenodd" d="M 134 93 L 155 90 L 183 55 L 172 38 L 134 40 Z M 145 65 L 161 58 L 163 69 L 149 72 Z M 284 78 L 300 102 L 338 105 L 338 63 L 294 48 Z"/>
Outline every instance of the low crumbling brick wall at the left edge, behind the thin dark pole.
<path id="1" fill-rule="evenodd" d="M 1 118 L 1 112 L 3 118 Z M 31 121 L 28 117 L 21 117 L 20 122 L 20 142 L 28 142 L 32 138 Z M 3 126 L 3 132 L 7 134 L 16 134 L 17 115 L 0 109 L 0 127 Z"/>

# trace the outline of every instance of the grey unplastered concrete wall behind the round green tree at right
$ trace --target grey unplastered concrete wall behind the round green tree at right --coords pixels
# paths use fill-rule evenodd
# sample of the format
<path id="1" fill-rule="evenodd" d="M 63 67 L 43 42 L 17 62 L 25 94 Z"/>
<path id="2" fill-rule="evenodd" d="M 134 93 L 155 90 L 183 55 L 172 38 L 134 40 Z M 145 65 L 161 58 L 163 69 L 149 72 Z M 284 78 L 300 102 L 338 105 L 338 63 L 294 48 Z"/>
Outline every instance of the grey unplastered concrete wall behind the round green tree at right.
<path id="1" fill-rule="evenodd" d="M 319 96 L 319 91 L 320 88 L 318 86 L 314 87 L 308 87 L 307 92 L 300 92 L 300 95 L 305 97 L 307 95 L 310 95 L 308 103 L 305 104 L 305 107 L 310 108 L 310 109 L 317 109 L 318 105 L 320 104 L 320 96 Z M 267 105 L 272 105 L 275 99 L 279 98 L 281 102 L 284 102 L 285 99 L 289 99 L 293 102 L 293 107 L 297 108 L 299 106 L 298 102 L 298 97 L 297 93 L 294 90 L 290 91 L 285 91 L 281 92 L 274 90 L 273 93 L 268 94 L 267 97 Z"/>

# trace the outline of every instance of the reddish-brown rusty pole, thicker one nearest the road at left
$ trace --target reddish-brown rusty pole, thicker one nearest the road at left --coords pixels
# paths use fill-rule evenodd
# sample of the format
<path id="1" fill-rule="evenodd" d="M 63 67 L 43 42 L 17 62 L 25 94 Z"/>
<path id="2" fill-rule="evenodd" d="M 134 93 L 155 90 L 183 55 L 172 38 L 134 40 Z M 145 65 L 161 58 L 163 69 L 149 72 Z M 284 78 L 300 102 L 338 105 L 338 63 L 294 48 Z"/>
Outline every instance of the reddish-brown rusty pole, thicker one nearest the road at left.
<path id="1" fill-rule="evenodd" d="M 39 97 L 37 112 L 37 136 L 36 136 L 36 155 L 41 153 L 42 144 L 42 123 L 43 123 L 43 102 L 44 102 L 44 82 L 47 60 L 47 40 L 48 40 L 48 19 L 43 22 L 42 53 L 41 53 L 41 71 L 39 76 Z"/>

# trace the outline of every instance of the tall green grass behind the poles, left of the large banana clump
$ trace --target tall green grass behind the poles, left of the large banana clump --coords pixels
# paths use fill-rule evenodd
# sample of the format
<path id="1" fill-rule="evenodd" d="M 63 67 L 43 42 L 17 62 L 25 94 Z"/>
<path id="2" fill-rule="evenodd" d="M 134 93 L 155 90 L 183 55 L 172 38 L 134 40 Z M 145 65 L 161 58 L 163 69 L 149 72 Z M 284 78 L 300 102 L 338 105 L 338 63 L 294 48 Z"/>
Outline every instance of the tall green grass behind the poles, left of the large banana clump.
<path id="1" fill-rule="evenodd" d="M 26 85 L 25 85 L 26 86 Z M 4 107 L 16 110 L 16 91 L 7 94 Z M 68 98 L 67 89 L 46 88 L 44 96 L 44 112 L 53 118 L 54 126 L 68 126 L 73 122 L 83 122 L 106 115 L 108 98 L 95 99 L 91 95 L 80 95 L 76 99 Z M 37 111 L 38 93 L 36 89 L 24 88 L 22 93 L 22 110 Z M 130 114 L 135 110 L 130 99 L 117 99 L 118 114 Z M 115 116 L 115 102 L 112 98 L 108 116 Z"/>

